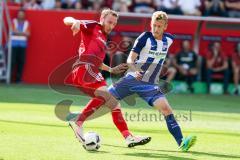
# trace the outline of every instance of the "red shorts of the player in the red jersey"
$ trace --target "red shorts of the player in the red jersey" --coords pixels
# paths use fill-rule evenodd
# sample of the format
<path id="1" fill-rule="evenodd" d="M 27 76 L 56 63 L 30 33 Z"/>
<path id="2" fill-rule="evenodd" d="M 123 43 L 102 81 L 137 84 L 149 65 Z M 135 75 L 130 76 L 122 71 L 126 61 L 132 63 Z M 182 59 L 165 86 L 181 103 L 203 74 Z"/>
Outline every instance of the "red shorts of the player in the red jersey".
<path id="1" fill-rule="evenodd" d="M 107 86 L 98 68 L 89 64 L 76 67 L 67 79 L 67 83 L 77 87 L 83 93 L 95 97 L 94 92 L 102 86 Z"/>

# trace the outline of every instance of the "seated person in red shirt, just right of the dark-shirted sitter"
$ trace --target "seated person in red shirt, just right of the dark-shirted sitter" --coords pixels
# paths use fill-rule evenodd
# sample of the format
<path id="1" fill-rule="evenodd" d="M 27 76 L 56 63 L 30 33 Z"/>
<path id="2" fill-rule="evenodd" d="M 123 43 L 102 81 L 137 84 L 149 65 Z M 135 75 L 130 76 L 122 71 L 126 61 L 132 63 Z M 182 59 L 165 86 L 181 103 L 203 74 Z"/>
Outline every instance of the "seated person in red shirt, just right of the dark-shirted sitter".
<path id="1" fill-rule="evenodd" d="M 214 42 L 210 51 L 206 55 L 207 58 L 207 89 L 210 92 L 210 85 L 214 74 L 223 75 L 223 90 L 227 94 L 228 81 L 229 81 L 229 70 L 228 70 L 228 60 L 225 54 L 221 50 L 220 42 Z"/>

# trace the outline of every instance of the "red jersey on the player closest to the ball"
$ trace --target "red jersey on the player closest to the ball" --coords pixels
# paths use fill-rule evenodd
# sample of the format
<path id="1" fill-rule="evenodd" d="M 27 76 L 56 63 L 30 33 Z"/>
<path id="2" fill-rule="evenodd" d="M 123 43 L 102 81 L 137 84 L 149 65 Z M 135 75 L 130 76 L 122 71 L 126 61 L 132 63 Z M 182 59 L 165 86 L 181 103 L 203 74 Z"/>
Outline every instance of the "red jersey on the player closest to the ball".
<path id="1" fill-rule="evenodd" d="M 99 68 L 106 54 L 107 35 L 102 31 L 102 25 L 98 22 L 85 20 L 82 22 L 85 25 L 80 25 L 81 42 L 78 62 L 90 63 Z"/>

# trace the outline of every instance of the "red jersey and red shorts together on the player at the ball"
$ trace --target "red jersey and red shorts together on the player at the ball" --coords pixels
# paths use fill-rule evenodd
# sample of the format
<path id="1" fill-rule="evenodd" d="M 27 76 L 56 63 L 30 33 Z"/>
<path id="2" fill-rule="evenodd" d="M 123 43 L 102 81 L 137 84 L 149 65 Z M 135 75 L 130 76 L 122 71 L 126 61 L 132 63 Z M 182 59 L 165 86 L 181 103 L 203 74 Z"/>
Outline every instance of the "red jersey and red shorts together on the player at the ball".
<path id="1" fill-rule="evenodd" d="M 66 82 L 95 97 L 95 90 L 107 85 L 99 72 L 99 67 L 105 58 L 107 35 L 96 21 L 83 22 L 85 24 L 80 25 L 79 57 L 73 64 L 72 73 L 67 77 Z"/>

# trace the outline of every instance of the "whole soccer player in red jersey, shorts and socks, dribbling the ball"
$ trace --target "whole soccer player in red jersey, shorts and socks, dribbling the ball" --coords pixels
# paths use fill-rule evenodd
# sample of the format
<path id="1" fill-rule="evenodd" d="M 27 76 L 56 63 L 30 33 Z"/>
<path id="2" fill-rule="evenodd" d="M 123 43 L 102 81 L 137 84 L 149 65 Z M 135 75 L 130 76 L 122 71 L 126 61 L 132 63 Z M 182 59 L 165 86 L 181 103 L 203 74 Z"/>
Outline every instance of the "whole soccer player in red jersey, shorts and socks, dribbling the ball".
<path id="1" fill-rule="evenodd" d="M 119 102 L 108 92 L 107 83 L 99 69 L 118 74 L 125 71 L 127 64 L 121 64 L 111 68 L 103 63 L 105 57 L 107 35 L 116 26 L 118 14 L 110 9 L 104 9 L 100 16 L 100 22 L 76 20 L 65 17 L 64 23 L 71 26 L 73 35 L 80 33 L 79 58 L 73 65 L 71 73 L 72 83 L 82 92 L 91 96 L 92 99 L 79 114 L 75 122 L 70 122 L 76 137 L 84 143 L 83 123 L 95 110 L 102 105 L 112 111 L 113 122 L 125 138 L 128 147 L 148 143 L 150 137 L 135 137 L 129 132 L 127 124 L 122 116 Z"/>

